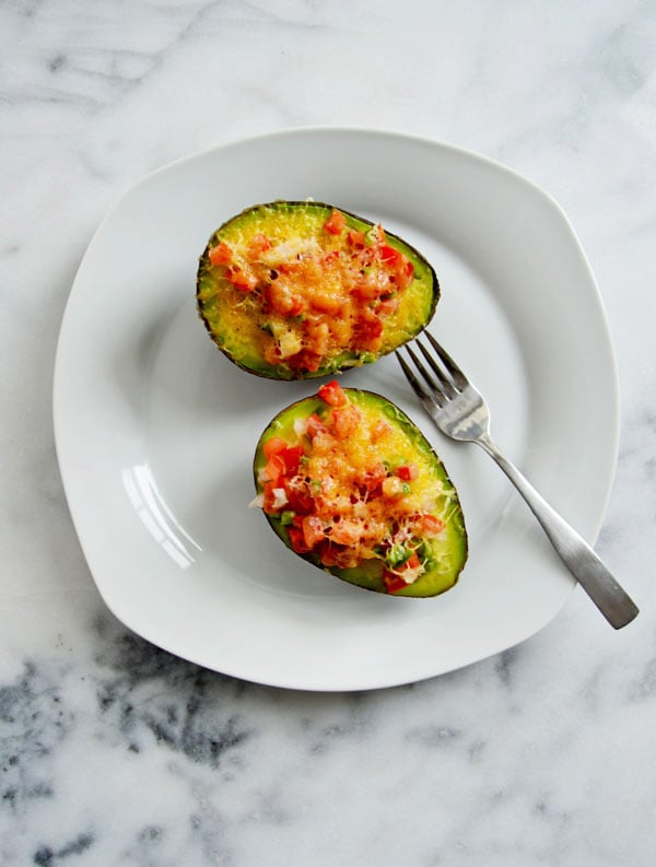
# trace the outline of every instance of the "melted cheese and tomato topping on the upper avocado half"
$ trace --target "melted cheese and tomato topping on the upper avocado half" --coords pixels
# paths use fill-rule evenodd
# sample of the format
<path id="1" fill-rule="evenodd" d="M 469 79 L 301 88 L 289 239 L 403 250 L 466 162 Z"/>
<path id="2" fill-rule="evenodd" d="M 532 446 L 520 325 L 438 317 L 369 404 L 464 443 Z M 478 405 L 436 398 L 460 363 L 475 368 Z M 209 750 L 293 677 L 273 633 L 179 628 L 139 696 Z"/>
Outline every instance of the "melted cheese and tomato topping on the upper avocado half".
<path id="1" fill-rule="evenodd" d="M 223 323 L 235 345 L 253 345 L 267 364 L 292 374 L 345 355 L 354 364 L 371 360 L 413 282 L 412 263 L 380 225 L 366 234 L 349 229 L 341 211 L 323 224 L 288 213 L 279 220 L 283 234 L 270 218 L 249 232 L 226 230 L 209 250 L 206 315 Z"/>

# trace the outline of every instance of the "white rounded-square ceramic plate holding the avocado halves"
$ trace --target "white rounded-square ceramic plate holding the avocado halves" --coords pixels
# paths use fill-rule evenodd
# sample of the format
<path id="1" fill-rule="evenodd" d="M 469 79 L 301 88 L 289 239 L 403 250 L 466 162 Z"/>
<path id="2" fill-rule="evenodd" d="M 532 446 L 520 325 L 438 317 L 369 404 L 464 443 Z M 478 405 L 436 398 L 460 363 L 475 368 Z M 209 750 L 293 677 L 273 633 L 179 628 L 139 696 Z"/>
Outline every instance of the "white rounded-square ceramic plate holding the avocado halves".
<path id="1" fill-rule="evenodd" d="M 232 365 L 197 318 L 196 266 L 213 230 L 243 208 L 308 196 L 380 220 L 430 258 L 443 293 L 431 328 L 488 397 L 495 438 L 595 539 L 619 412 L 581 246 L 554 201 L 524 178 L 396 133 L 280 132 L 133 187 L 98 229 L 67 306 L 57 450 L 94 579 L 134 632 L 261 683 L 394 686 L 532 635 L 573 582 L 501 471 L 434 431 L 389 358 L 343 382 L 386 395 L 435 444 L 469 531 L 459 584 L 427 600 L 361 590 L 293 555 L 247 508 L 260 432 L 318 383 L 258 379 Z"/>

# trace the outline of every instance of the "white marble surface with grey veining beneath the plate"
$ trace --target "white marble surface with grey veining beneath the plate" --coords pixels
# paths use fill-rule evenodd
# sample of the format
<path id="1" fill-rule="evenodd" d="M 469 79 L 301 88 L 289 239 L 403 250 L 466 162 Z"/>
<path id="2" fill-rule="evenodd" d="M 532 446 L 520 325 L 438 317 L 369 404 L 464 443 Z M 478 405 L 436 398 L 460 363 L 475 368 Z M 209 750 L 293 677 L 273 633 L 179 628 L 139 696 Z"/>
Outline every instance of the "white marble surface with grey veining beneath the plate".
<path id="1" fill-rule="evenodd" d="M 655 49 L 637 0 L 0 5 L 0 863 L 655 863 Z M 450 141 L 564 207 L 618 353 L 598 550 L 642 607 L 630 628 L 577 590 L 466 670 L 304 694 L 196 668 L 105 609 L 50 421 L 75 269 L 144 173 L 305 125 Z"/>

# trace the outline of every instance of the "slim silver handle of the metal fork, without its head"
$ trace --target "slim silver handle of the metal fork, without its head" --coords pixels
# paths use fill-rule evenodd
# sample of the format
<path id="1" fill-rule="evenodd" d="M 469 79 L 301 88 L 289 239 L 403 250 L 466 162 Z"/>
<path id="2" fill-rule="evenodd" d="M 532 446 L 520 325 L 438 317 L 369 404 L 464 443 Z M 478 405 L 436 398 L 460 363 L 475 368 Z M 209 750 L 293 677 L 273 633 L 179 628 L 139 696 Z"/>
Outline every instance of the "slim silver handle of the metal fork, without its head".
<path id="1" fill-rule="evenodd" d="M 489 436 L 475 442 L 494 458 L 526 500 L 563 563 L 611 626 L 621 629 L 631 623 L 639 612 L 637 606 L 620 587 L 585 539 L 549 505 L 517 467 L 501 454 Z"/>

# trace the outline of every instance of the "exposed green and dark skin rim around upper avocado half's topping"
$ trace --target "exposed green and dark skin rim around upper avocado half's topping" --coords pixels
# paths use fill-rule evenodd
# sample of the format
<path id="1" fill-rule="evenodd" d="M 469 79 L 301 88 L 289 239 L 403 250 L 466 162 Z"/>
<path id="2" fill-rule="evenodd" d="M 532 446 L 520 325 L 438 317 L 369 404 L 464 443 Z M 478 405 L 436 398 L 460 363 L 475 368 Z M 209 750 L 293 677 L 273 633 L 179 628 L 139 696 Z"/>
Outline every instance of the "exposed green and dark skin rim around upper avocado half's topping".
<path id="1" fill-rule="evenodd" d="M 361 366 L 362 364 L 371 364 L 382 358 L 384 354 L 389 354 L 394 352 L 395 349 L 403 345 L 408 341 L 412 340 L 417 335 L 422 331 L 431 321 L 435 314 L 435 308 L 437 306 L 437 302 L 440 301 L 441 296 L 441 289 L 440 282 L 437 280 L 437 274 L 435 273 L 435 269 L 429 262 L 429 260 L 411 244 L 403 241 L 398 235 L 393 234 L 385 230 L 386 239 L 391 242 L 391 246 L 398 247 L 402 253 L 405 253 L 408 258 L 412 261 L 415 270 L 418 268 L 426 269 L 432 283 L 432 298 L 429 306 L 429 311 L 421 323 L 418 324 L 418 327 L 412 331 L 408 332 L 407 336 L 395 345 L 391 345 L 386 352 L 384 353 L 372 353 L 367 352 L 367 358 L 359 358 L 353 355 L 352 353 L 343 352 L 336 359 L 333 359 L 329 364 L 326 364 L 313 372 L 304 372 L 304 371 L 288 371 L 284 368 L 273 367 L 269 365 L 263 359 L 259 362 L 251 362 L 246 363 L 234 352 L 231 352 L 225 345 L 223 345 L 221 336 L 218 335 L 209 321 L 209 318 L 204 311 L 204 305 L 201 301 L 201 284 L 203 277 L 210 272 L 212 266 L 210 263 L 210 249 L 215 246 L 221 241 L 221 235 L 227 226 L 231 226 L 237 221 L 248 220 L 248 218 L 253 214 L 259 214 L 262 209 L 268 211 L 276 211 L 276 210 L 289 210 L 291 208 L 304 208 L 304 209 L 314 209 L 316 211 L 324 211 L 326 219 L 330 215 L 333 209 L 341 211 L 344 216 L 349 221 L 349 225 L 354 225 L 361 230 L 368 231 L 375 224 L 371 220 L 366 220 L 359 214 L 355 214 L 351 211 L 347 211 L 343 208 L 337 208 L 337 206 L 328 204 L 321 201 L 301 201 L 301 200 L 290 200 L 290 199 L 277 199 L 272 202 L 265 202 L 262 204 L 253 204 L 248 208 L 245 208 L 241 213 L 236 214 L 235 216 L 230 218 L 226 220 L 222 225 L 215 230 L 210 236 L 204 250 L 202 251 L 201 256 L 199 257 L 199 266 L 197 270 L 196 277 L 196 306 L 197 313 L 210 336 L 212 342 L 216 345 L 216 348 L 237 367 L 247 373 L 254 374 L 256 376 L 260 376 L 267 379 L 278 379 L 278 380 L 297 380 L 297 379 L 313 379 L 318 378 L 321 376 L 332 376 L 335 374 L 341 374 L 345 370 L 350 367 Z"/>

